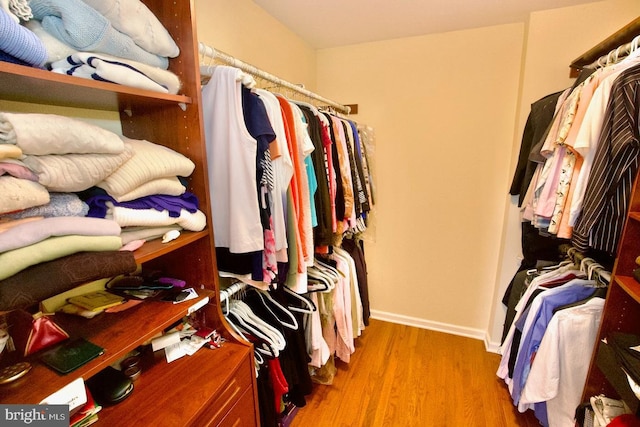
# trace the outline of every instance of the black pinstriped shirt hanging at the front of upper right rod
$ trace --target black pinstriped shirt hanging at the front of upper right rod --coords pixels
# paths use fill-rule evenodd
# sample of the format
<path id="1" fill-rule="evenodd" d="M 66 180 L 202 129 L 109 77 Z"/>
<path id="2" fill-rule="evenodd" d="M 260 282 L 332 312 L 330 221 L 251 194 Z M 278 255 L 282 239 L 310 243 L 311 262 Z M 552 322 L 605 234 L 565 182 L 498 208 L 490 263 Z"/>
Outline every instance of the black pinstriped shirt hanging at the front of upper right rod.
<path id="1" fill-rule="evenodd" d="M 578 250 L 615 255 L 638 170 L 640 65 L 622 72 L 611 88 L 582 213 L 573 230 Z"/>

